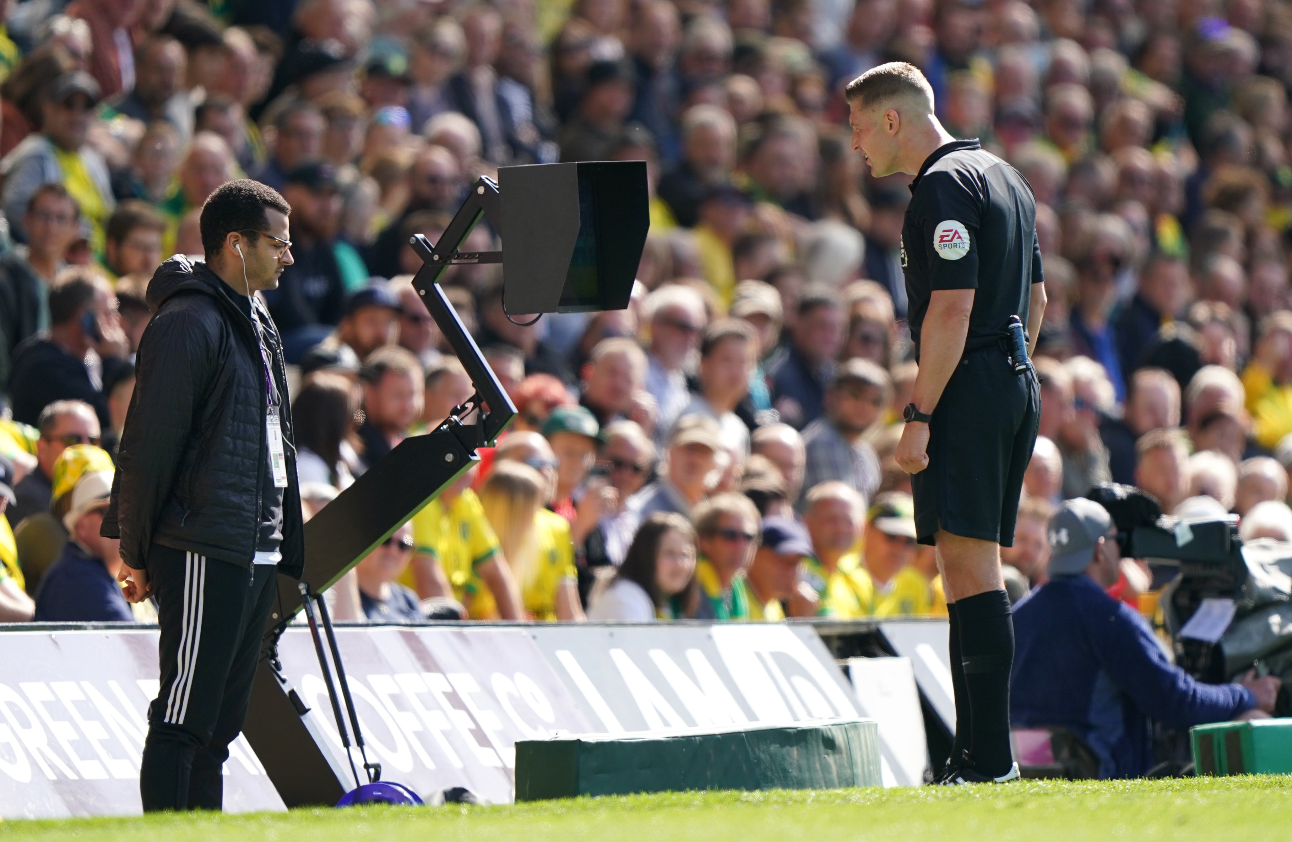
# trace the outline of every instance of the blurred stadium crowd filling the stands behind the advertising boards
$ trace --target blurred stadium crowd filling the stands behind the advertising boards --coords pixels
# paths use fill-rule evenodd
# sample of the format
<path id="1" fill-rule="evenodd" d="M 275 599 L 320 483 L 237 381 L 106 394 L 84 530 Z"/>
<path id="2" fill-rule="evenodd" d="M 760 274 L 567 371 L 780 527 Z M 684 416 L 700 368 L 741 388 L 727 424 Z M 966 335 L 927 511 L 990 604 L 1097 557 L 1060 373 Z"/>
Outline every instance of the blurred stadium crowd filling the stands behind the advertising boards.
<path id="1" fill-rule="evenodd" d="M 333 590 L 341 619 L 944 612 L 894 462 L 915 380 L 908 177 L 851 151 L 885 61 L 1037 200 L 1037 440 L 1004 550 L 1119 482 L 1292 540 L 1292 4 L 1282 0 L 0 1 L 0 620 L 128 620 L 99 537 L 163 257 L 252 177 L 292 207 L 265 301 L 317 514 L 472 395 L 411 284 L 510 164 L 645 160 L 627 310 L 508 318 L 442 283 L 519 408 Z M 497 248 L 488 226 L 466 249 Z M 513 314 L 514 315 L 514 314 Z M 12 529 L 10 529 L 12 527 Z M 1107 593 L 1151 613 L 1147 568 Z"/>

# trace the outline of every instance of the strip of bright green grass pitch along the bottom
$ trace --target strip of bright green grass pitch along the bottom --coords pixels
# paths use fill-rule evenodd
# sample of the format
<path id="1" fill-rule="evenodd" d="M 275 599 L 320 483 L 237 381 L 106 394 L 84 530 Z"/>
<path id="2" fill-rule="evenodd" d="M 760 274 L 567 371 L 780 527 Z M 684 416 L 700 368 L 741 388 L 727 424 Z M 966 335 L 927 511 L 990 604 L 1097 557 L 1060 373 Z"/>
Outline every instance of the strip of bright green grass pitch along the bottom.
<path id="1" fill-rule="evenodd" d="M 500 807 L 362 807 L 245 816 L 0 823 L 0 842 L 434 842 L 504 839 L 1224 839 L 1288 838 L 1292 777 L 1025 781 L 1005 786 L 668 793 Z"/>

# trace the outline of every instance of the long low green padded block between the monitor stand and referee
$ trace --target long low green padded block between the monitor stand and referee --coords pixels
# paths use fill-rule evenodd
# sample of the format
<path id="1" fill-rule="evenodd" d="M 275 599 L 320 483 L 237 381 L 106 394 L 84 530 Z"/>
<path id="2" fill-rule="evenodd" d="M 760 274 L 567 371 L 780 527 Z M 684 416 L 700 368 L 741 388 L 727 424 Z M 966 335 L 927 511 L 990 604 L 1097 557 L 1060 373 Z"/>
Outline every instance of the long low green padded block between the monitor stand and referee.
<path id="1" fill-rule="evenodd" d="M 872 719 L 562 736 L 516 744 L 517 801 L 879 785 L 879 726 Z"/>

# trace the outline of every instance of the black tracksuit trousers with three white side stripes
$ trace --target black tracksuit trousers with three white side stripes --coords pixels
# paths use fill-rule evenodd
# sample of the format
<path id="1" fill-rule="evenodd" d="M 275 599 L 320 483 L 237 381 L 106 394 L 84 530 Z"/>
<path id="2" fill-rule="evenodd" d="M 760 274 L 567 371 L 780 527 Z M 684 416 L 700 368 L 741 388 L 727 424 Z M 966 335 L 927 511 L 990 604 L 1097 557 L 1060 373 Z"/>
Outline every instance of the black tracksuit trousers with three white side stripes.
<path id="1" fill-rule="evenodd" d="M 162 687 L 149 705 L 143 810 L 220 810 L 224 763 L 247 715 L 278 568 L 154 544 L 147 570 L 162 626 Z"/>

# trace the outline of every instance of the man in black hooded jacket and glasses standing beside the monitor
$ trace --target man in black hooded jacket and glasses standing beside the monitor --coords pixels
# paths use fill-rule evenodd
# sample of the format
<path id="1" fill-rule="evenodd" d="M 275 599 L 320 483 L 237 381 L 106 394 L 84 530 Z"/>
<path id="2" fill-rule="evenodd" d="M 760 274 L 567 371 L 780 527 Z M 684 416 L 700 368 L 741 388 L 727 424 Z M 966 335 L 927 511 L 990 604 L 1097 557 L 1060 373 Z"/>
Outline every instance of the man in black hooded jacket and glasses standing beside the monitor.
<path id="1" fill-rule="evenodd" d="M 249 180 L 202 209 L 207 262 L 176 256 L 149 284 L 134 398 L 103 535 L 125 594 L 155 594 L 162 683 L 149 706 L 146 811 L 220 810 L 276 591 L 305 562 L 282 340 L 264 303 L 292 262 L 291 207 Z"/>

